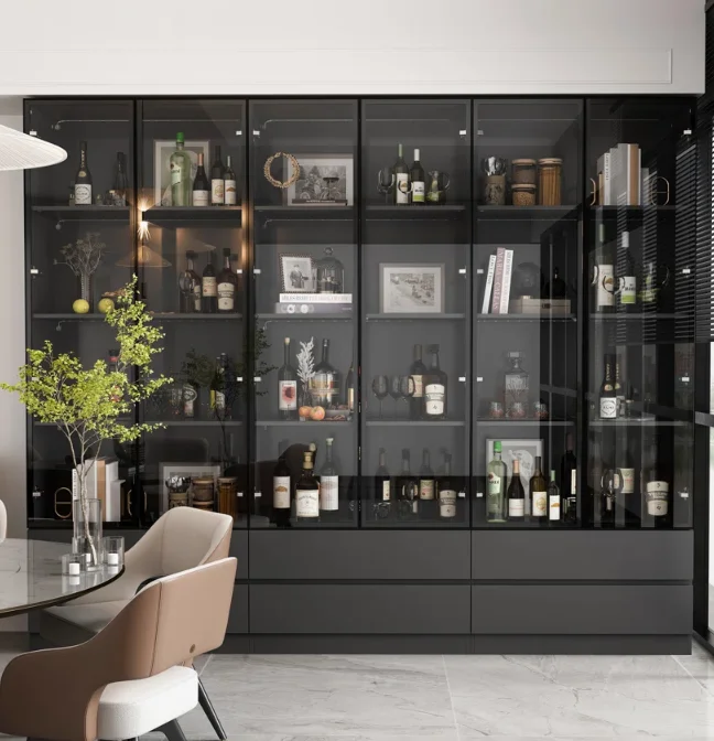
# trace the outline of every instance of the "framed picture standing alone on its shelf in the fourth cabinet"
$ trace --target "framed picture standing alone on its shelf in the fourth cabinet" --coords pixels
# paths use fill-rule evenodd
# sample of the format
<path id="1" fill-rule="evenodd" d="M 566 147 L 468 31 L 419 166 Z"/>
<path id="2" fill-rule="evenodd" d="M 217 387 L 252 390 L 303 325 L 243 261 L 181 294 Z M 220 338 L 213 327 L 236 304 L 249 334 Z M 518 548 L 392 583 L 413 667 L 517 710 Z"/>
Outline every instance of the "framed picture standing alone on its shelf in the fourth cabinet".
<path id="1" fill-rule="evenodd" d="M 444 313 L 444 264 L 379 265 L 383 314 Z"/>

